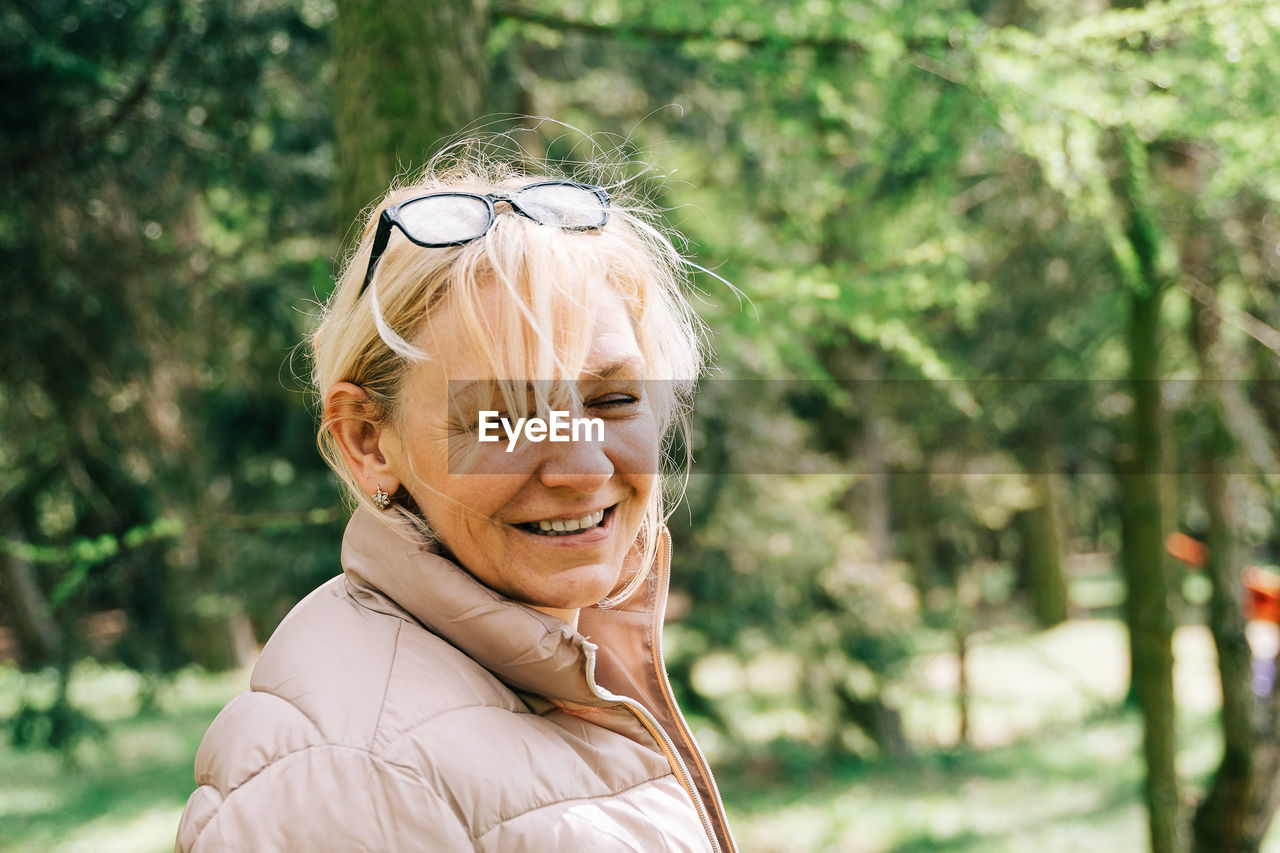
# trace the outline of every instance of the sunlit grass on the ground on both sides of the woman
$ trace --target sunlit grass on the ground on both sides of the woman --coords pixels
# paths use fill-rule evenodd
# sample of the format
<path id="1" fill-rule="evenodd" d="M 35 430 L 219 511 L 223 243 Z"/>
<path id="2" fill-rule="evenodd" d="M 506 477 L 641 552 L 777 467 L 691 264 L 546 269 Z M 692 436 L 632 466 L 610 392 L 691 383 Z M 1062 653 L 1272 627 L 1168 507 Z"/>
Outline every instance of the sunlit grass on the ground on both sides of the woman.
<path id="1" fill-rule="evenodd" d="M 974 637 L 973 743 L 954 745 L 955 663 L 922 657 L 896 699 L 913 743 L 905 762 L 833 762 L 786 747 L 718 772 L 749 853 L 951 853 L 1146 849 L 1140 726 L 1117 711 L 1123 629 L 1079 620 L 1052 631 Z M 1212 648 L 1179 630 L 1179 771 L 1199 795 L 1217 758 Z M 106 736 L 59 753 L 0 745 L 0 852 L 168 850 L 193 781 L 196 745 L 247 674 L 182 674 L 140 713 L 134 674 L 81 665 L 73 701 Z M 0 719 L 47 702 L 51 675 L 0 669 Z M 1280 833 L 1263 848 L 1280 852 Z"/>

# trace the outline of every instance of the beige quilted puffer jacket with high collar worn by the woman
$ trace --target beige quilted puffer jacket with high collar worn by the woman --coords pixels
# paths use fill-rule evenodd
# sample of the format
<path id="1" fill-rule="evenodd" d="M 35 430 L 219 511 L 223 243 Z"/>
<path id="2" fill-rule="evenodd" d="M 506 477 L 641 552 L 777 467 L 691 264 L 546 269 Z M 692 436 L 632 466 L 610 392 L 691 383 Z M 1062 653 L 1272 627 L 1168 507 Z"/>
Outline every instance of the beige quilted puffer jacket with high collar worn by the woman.
<path id="1" fill-rule="evenodd" d="M 358 510 L 196 754 L 177 850 L 733 850 L 645 594 L 579 631 Z"/>

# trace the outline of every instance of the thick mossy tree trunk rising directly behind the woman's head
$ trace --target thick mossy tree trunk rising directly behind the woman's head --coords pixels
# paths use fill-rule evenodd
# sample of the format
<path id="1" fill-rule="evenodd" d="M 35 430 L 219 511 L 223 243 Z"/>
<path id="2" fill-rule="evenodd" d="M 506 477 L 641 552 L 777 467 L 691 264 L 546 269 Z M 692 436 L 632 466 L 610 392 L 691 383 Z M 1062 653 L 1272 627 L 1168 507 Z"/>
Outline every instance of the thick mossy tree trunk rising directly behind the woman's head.
<path id="1" fill-rule="evenodd" d="M 339 219 L 481 115 L 485 0 L 338 0 L 334 106 Z"/>

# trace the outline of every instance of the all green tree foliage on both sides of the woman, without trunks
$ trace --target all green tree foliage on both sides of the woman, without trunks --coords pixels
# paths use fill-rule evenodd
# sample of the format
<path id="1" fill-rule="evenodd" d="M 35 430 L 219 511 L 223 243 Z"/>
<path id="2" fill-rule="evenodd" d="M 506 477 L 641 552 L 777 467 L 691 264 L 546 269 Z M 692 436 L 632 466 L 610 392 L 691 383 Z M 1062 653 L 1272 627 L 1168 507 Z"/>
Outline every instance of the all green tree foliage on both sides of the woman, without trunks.
<path id="1" fill-rule="evenodd" d="M 1073 549 L 1114 551 L 1126 289 L 1165 289 L 1180 330 L 1212 284 L 1247 332 L 1225 336 L 1225 420 L 1251 434 L 1206 433 L 1172 394 L 1170 457 L 1274 460 L 1277 368 L 1253 338 L 1280 324 L 1280 5 L 490 12 L 490 67 L 461 69 L 488 79 L 485 110 L 614 133 L 657 165 L 632 186 L 741 289 L 698 278 L 721 373 L 672 519 L 669 662 L 727 753 L 874 752 L 854 708 L 892 710 L 929 629 L 1018 619 L 1030 476 L 1061 478 Z M 227 665 L 229 625 L 261 639 L 337 571 L 294 350 L 346 227 L 335 14 L 0 13 L 0 542 L 72 637 L 64 666 L 88 651 L 76 617 L 108 608 L 129 666 Z M 1194 375 L 1184 337 L 1160 341 L 1162 375 Z M 1263 556 L 1272 492 L 1248 489 Z"/>

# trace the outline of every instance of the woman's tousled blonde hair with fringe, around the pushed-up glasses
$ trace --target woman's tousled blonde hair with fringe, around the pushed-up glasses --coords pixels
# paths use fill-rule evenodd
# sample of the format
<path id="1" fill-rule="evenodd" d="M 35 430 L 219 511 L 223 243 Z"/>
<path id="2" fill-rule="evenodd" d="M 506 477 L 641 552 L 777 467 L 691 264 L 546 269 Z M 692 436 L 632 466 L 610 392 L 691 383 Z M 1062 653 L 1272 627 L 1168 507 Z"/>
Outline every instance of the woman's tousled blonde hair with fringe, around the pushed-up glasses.
<path id="1" fill-rule="evenodd" d="M 605 282 L 626 306 L 646 362 L 644 378 L 657 380 L 648 387 L 654 391 L 650 400 L 668 464 L 673 461 L 673 435 L 687 430 L 690 398 L 704 366 L 703 325 L 684 296 L 689 265 L 654 213 L 630 197 L 625 186 L 605 186 L 609 220 L 594 232 L 539 225 L 499 213 L 484 237 L 462 246 L 422 248 L 393 237 L 369 288 L 361 292 L 379 215 L 393 204 L 439 191 L 509 191 L 548 178 L 605 183 L 598 179 L 604 172 L 598 167 L 594 175 L 554 174 L 545 164 L 526 168 L 524 158 L 512 158 L 509 150 L 495 159 L 488 154 L 490 149 L 492 143 L 476 141 L 451 146 L 366 210 L 360 242 L 348 255 L 310 337 L 312 384 L 321 400 L 339 382 L 360 386 L 369 397 L 358 410 L 348 405 L 323 411 L 317 433 L 321 455 L 356 505 L 374 506 L 347 467 L 329 428 L 349 418 L 388 426 L 397 423 L 403 383 L 412 368 L 428 357 L 412 341 L 444 300 L 449 300 L 454 323 L 461 324 L 489 375 L 572 380 L 586 359 L 599 296 L 589 283 Z M 502 306 L 481 311 L 481 288 L 493 284 L 500 288 Z M 524 379 L 518 388 L 515 379 L 499 384 L 508 405 L 525 400 Z M 545 397 L 538 400 L 539 407 L 547 402 Z M 687 459 L 680 460 L 676 469 L 687 474 Z M 648 576 L 658 553 L 655 534 L 669 515 L 668 502 L 659 484 L 640 526 L 640 569 L 602 606 L 625 601 Z M 431 535 L 428 520 L 398 502 L 394 510 Z"/>

